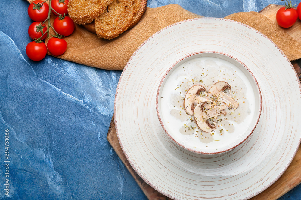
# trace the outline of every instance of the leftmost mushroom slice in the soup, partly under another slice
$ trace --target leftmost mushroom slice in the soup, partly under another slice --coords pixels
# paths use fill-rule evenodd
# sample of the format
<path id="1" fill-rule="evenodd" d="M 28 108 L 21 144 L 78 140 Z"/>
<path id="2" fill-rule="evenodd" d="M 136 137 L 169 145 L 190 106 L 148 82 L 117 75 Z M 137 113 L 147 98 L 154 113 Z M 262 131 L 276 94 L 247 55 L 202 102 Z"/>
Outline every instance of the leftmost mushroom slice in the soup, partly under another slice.
<path id="1" fill-rule="evenodd" d="M 188 115 L 193 115 L 194 107 L 198 103 L 211 103 L 210 100 L 199 96 L 201 91 L 206 92 L 205 88 L 202 85 L 194 85 L 188 89 L 184 99 L 184 109 Z"/>

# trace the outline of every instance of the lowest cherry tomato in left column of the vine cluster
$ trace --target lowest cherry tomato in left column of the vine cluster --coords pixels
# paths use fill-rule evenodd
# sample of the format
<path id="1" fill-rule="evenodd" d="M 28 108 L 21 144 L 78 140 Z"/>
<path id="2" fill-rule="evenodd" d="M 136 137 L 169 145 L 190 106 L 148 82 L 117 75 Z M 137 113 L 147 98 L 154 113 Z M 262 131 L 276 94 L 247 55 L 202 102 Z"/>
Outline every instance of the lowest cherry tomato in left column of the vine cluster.
<path id="1" fill-rule="evenodd" d="M 47 54 L 46 44 L 44 42 L 29 42 L 26 46 L 26 54 L 28 58 L 32 59 L 33 61 L 40 61 L 45 58 Z"/>

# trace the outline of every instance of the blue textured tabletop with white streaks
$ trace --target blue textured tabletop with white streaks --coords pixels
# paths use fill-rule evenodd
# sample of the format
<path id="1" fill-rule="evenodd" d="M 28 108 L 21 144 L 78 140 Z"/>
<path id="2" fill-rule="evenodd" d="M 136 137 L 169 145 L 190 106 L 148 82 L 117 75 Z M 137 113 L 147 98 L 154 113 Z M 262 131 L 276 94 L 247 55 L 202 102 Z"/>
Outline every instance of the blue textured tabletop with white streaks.
<path id="1" fill-rule="evenodd" d="M 208 17 L 260 11 L 280 0 L 149 0 L 180 4 Z M 293 1 L 294 4 L 299 3 Z M 9 129 L 10 196 L 1 199 L 146 199 L 106 140 L 120 71 L 100 70 L 46 55 L 27 58 L 32 20 L 25 0 L 0 5 L 0 163 Z M 300 187 L 281 197 L 300 198 Z"/>

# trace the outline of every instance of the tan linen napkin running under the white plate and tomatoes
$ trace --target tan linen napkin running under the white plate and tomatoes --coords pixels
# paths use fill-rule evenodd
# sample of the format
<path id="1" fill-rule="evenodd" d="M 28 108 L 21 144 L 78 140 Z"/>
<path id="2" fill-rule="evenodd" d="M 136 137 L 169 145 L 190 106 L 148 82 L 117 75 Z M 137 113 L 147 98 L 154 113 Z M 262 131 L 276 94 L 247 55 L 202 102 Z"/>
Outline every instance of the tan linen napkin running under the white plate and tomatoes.
<path id="1" fill-rule="evenodd" d="M 52 21 L 55 17 L 52 16 Z M 177 4 L 157 8 L 147 7 L 144 16 L 135 27 L 112 40 L 98 38 L 83 26 L 76 24 L 73 34 L 64 37 L 68 48 L 59 58 L 101 69 L 123 70 L 135 50 L 151 35 L 173 23 L 198 17 L 202 16 L 191 13 Z M 274 41 L 290 60 L 301 58 L 301 44 L 262 14 L 241 12 L 225 18 L 244 23 L 262 32 Z M 45 42 L 47 41 L 46 39 Z"/>

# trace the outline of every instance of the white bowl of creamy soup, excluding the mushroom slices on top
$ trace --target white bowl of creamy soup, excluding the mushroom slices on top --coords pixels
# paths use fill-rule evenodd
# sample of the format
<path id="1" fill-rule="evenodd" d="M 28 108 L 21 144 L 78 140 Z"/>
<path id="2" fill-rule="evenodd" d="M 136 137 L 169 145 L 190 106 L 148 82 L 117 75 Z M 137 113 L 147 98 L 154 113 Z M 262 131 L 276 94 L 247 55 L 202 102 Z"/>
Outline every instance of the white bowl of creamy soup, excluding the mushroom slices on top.
<path id="1" fill-rule="evenodd" d="M 228 95 L 238 107 L 225 106 L 227 114 L 218 116 L 215 130 L 206 132 L 200 129 L 201 122 L 196 123 L 195 114 L 186 113 L 183 102 L 193 85 L 202 85 L 208 92 L 216 82 L 231 85 Z M 262 98 L 253 73 L 242 62 L 221 52 L 195 52 L 175 62 L 163 76 L 156 109 L 165 133 L 177 145 L 197 154 L 219 154 L 251 135 L 260 118 Z"/>

